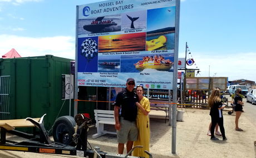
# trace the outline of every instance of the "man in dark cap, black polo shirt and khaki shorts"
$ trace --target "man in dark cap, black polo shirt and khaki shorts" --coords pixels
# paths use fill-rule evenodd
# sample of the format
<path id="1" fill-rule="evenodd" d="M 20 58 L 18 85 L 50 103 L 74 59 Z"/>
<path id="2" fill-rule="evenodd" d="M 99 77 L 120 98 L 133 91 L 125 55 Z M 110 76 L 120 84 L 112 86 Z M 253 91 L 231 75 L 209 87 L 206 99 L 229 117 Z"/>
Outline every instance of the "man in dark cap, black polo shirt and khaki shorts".
<path id="1" fill-rule="evenodd" d="M 122 90 L 116 96 L 114 113 L 117 142 L 119 143 L 118 154 L 123 154 L 125 143 L 128 153 L 138 137 L 136 126 L 137 106 L 135 104 L 138 97 L 134 92 L 134 87 L 134 78 L 128 78 L 125 90 Z"/>

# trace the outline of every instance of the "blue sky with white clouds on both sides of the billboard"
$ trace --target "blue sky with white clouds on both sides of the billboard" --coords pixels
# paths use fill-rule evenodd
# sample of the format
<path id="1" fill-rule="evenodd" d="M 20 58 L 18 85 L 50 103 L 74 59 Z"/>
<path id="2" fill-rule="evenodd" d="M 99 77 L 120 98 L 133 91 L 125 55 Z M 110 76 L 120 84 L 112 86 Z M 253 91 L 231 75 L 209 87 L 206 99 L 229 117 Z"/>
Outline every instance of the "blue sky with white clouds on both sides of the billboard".
<path id="1" fill-rule="evenodd" d="M 75 58 L 76 5 L 87 1 L 0 0 L 0 55 Z M 90 0 L 90 3 L 100 2 Z M 256 81 L 255 0 L 183 0 L 179 57 L 194 58 L 199 77 Z"/>

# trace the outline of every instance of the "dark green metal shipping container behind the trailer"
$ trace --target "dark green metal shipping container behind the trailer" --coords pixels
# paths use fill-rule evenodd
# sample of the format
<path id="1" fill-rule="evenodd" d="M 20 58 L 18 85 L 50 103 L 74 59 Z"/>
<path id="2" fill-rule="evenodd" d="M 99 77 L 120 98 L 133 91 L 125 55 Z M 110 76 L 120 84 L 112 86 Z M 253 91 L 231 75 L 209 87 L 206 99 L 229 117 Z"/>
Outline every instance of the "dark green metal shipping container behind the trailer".
<path id="1" fill-rule="evenodd" d="M 70 74 L 70 61 L 52 55 L 0 58 L 0 119 L 41 117 L 46 113 L 45 127 L 50 130 L 57 117 L 69 115 L 70 102 L 62 100 L 62 74 Z"/>

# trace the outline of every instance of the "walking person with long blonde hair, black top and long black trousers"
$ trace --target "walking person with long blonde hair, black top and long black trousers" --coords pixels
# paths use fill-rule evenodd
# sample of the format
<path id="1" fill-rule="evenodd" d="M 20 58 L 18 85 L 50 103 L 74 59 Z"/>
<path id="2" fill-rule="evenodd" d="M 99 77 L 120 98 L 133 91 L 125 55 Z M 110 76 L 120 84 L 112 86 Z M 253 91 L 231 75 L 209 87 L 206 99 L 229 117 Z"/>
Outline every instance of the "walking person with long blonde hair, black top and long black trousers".
<path id="1" fill-rule="evenodd" d="M 225 136 L 225 129 L 223 126 L 223 114 L 222 110 L 225 107 L 220 99 L 220 90 L 219 88 L 214 88 L 211 92 L 211 95 L 208 99 L 208 104 L 210 106 L 210 116 L 211 116 L 211 140 L 219 140 L 214 136 L 214 129 L 216 124 L 219 124 L 220 132 L 223 137 L 223 140 L 227 140 Z"/>

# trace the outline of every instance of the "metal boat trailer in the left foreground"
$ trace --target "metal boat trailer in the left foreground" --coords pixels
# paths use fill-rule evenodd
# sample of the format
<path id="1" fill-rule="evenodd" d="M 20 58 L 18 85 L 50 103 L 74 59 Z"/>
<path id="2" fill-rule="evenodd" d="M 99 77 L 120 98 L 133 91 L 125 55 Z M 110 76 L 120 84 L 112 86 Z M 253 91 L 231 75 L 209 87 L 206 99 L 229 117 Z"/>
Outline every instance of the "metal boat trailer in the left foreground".
<path id="1" fill-rule="evenodd" d="M 77 130 L 76 136 L 73 137 L 73 135 L 68 133 L 68 131 L 66 131 L 66 129 L 63 128 L 63 127 L 70 126 L 66 124 L 67 122 L 63 120 L 65 119 L 67 120 L 67 118 L 70 118 L 71 116 L 62 116 L 55 121 L 56 130 L 53 131 L 53 137 L 55 138 L 55 140 L 57 139 L 58 142 L 51 141 L 50 137 L 48 136 L 48 131 L 46 131 L 45 126 L 43 125 L 43 118 L 45 117 L 45 115 L 43 115 L 40 119 L 38 118 L 39 121 L 37 121 L 36 119 L 32 119 L 30 117 L 27 117 L 27 119 L 24 119 L 24 123 L 26 123 L 25 121 L 29 121 L 33 124 L 34 127 L 37 127 L 37 129 L 39 129 L 39 135 L 35 135 L 35 133 L 27 134 L 21 131 L 14 130 L 15 127 L 28 127 L 27 124 L 12 126 L 11 124 L 8 124 L 8 122 L 7 123 L 4 122 L 6 120 L 1 120 L 0 121 L 0 127 L 1 127 L 0 150 L 14 150 L 14 151 L 24 151 L 24 152 L 61 154 L 61 155 L 76 155 L 76 156 L 88 157 L 88 158 L 97 158 L 97 157 L 135 158 L 135 156 L 129 156 L 129 154 L 131 154 L 131 152 L 135 148 L 142 147 L 142 146 L 135 146 L 127 155 L 109 154 L 107 152 L 100 151 L 99 147 L 95 147 L 95 149 L 88 149 L 87 148 L 87 130 L 88 130 L 88 123 L 90 122 L 90 119 L 78 118 L 76 120 L 76 129 L 78 130 Z M 78 114 L 78 115 L 81 115 L 81 114 Z M 13 120 L 13 121 L 16 122 L 16 120 Z M 7 133 L 22 137 L 27 140 L 20 141 L 20 142 L 7 140 L 6 138 Z M 54 135 L 54 133 L 55 135 L 58 135 L 57 138 Z M 72 139 L 72 141 L 75 142 L 75 144 L 67 145 L 67 144 L 61 143 L 61 142 L 67 143 L 68 140 L 70 139 Z M 150 157 L 152 157 L 150 152 L 148 151 L 145 151 L 145 152 Z"/>

